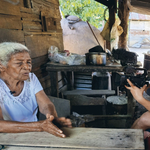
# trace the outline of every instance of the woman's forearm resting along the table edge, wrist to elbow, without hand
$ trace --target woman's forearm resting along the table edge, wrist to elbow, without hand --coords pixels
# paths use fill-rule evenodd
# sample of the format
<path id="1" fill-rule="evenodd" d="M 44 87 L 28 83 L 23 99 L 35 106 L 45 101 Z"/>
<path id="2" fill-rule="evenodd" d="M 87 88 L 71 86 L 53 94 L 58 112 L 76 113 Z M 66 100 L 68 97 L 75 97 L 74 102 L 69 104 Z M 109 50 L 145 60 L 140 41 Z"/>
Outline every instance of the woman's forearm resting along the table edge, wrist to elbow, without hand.
<path id="1" fill-rule="evenodd" d="M 0 120 L 0 132 L 20 133 L 20 132 L 41 132 L 41 122 L 16 122 Z"/>

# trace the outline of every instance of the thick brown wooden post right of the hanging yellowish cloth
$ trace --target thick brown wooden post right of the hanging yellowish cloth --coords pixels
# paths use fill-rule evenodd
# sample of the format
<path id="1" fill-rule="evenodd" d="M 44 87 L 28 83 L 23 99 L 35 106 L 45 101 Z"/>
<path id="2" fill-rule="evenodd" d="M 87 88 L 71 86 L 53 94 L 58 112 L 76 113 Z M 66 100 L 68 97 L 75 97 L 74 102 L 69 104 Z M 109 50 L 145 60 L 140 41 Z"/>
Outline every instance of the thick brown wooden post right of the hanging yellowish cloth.
<path id="1" fill-rule="evenodd" d="M 127 33 L 128 33 L 128 19 L 129 19 L 129 8 L 127 0 L 119 0 L 119 12 L 118 16 L 121 20 L 121 26 L 123 33 L 119 37 L 118 48 L 127 48 Z"/>

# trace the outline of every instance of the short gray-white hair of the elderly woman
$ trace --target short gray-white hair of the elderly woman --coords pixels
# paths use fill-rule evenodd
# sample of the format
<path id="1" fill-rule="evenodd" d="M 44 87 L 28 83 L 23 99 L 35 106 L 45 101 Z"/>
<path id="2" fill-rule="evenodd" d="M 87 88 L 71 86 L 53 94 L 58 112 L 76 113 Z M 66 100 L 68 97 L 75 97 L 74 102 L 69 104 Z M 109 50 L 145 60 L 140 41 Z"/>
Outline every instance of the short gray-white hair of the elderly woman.
<path id="1" fill-rule="evenodd" d="M 29 53 L 29 49 L 21 43 L 16 42 L 3 42 L 0 43 L 0 62 L 6 66 L 11 56 L 26 51 Z"/>

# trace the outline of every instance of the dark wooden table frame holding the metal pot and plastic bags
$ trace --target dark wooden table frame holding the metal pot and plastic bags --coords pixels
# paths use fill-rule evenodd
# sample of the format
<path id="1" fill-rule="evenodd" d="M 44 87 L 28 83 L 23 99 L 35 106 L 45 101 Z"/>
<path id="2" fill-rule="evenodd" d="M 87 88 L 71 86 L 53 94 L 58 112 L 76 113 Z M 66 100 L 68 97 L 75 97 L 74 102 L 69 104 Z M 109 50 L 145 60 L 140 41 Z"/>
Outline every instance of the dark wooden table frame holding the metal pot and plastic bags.
<path id="1" fill-rule="evenodd" d="M 115 74 L 116 72 L 122 72 L 123 68 L 121 65 L 106 65 L 106 66 L 87 66 L 87 65 L 63 65 L 59 63 L 47 63 L 46 70 L 49 72 L 50 80 L 51 80 L 51 96 L 58 97 L 59 89 L 58 89 L 58 72 L 59 71 L 66 71 L 66 72 L 112 72 L 112 90 L 115 90 Z M 128 95 L 128 106 L 127 106 L 127 117 L 133 117 L 134 110 L 133 110 L 133 96 L 130 91 L 127 92 Z M 113 115 L 112 115 L 113 117 Z M 120 115 L 120 117 L 122 117 Z M 123 115 L 124 117 L 124 115 Z"/>

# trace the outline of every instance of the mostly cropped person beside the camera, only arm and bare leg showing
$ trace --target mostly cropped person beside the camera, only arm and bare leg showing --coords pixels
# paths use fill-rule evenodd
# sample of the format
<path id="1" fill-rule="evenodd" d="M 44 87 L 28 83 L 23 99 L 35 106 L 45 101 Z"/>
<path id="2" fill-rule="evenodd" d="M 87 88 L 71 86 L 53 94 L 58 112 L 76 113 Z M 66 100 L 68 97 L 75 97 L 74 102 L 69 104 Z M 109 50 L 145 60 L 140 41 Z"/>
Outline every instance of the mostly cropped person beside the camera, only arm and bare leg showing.
<path id="1" fill-rule="evenodd" d="M 146 139 L 150 136 L 150 132 L 146 131 L 147 129 L 150 129 L 150 101 L 143 97 L 143 93 L 148 87 L 147 85 L 144 85 L 142 88 L 139 89 L 138 87 L 134 86 L 129 79 L 127 79 L 127 81 L 130 87 L 125 87 L 129 89 L 133 97 L 148 110 L 140 118 L 138 118 L 131 127 L 133 129 L 143 129 L 144 139 Z"/>

